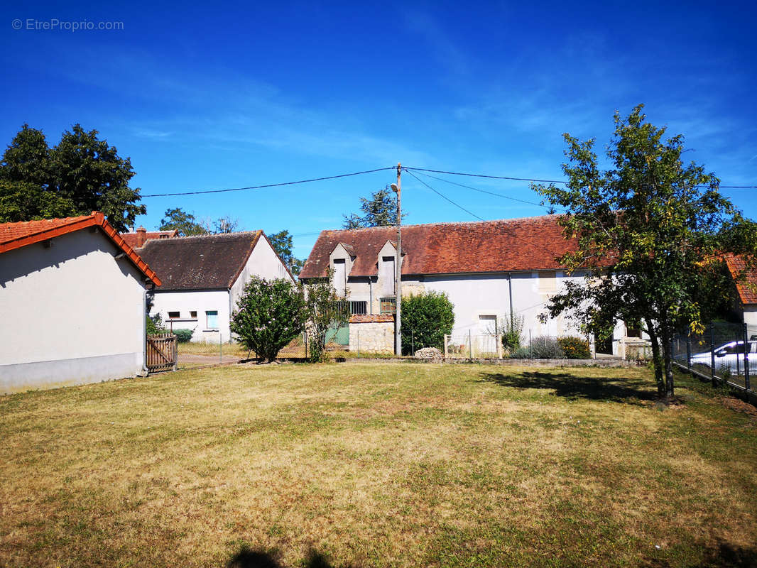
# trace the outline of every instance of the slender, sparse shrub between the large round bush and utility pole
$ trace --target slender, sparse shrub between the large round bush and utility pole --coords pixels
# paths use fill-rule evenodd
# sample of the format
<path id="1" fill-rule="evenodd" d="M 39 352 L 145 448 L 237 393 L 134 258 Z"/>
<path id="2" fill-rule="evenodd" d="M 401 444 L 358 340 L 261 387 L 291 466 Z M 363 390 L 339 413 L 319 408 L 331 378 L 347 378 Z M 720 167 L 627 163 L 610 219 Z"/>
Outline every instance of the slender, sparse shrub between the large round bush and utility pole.
<path id="1" fill-rule="evenodd" d="M 347 311 L 340 307 L 344 298 L 332 286 L 332 274 L 333 270 L 329 270 L 326 279 L 307 286 L 307 338 L 313 363 L 326 360 L 329 330 L 347 323 Z"/>

